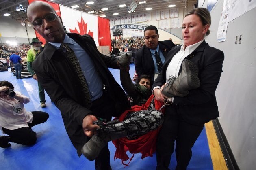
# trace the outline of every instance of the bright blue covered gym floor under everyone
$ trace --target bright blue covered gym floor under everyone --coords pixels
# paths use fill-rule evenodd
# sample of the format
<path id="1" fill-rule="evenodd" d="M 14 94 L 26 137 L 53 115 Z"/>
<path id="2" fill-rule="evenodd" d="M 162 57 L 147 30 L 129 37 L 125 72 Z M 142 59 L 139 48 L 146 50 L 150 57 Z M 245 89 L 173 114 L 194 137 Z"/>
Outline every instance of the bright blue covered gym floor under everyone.
<path id="1" fill-rule="evenodd" d="M 109 69 L 116 81 L 121 85 L 119 70 Z M 130 75 L 135 72 L 134 64 L 130 64 Z M 45 111 L 49 114 L 49 119 L 42 124 L 34 126 L 32 129 L 37 133 L 37 142 L 33 146 L 23 146 L 11 143 L 11 147 L 0 148 L 0 169 L 1 170 L 93 170 L 94 161 L 87 160 L 84 156 L 78 157 L 76 149 L 67 136 L 61 113 L 54 103 L 50 101 L 46 94 L 46 108 L 40 107 L 37 81 L 32 78 L 16 79 L 8 71 L 0 72 L 0 81 L 13 83 L 15 91 L 30 98 L 28 104 L 24 104 L 28 111 Z M 213 131 L 214 133 L 214 131 Z M 0 132 L 2 135 L 2 132 Z M 209 142 L 210 143 L 210 142 Z M 124 166 L 120 159 L 114 160 L 115 147 L 112 142 L 108 143 L 110 149 L 110 163 L 113 170 L 123 168 L 130 170 L 155 170 L 156 154 L 153 157 L 141 159 L 141 154 L 135 154 L 129 166 Z M 206 129 L 202 130 L 199 138 L 192 148 L 192 158 L 187 170 L 213 170 L 213 161 L 210 154 Z M 132 154 L 128 154 L 129 157 Z M 128 161 L 126 161 L 127 163 Z M 176 167 L 175 154 L 171 157 L 169 168 L 174 170 Z"/>

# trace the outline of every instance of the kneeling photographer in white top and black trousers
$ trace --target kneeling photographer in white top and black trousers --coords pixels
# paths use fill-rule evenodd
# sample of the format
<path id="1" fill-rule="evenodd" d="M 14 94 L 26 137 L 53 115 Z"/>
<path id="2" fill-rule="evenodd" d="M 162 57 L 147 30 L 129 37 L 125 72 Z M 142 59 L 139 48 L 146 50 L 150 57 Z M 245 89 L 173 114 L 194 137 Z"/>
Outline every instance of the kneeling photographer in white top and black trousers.
<path id="1" fill-rule="evenodd" d="M 37 141 L 36 133 L 31 129 L 34 125 L 45 122 L 49 115 L 46 112 L 28 112 L 24 104 L 29 98 L 18 91 L 14 91 L 12 83 L 0 81 L 0 147 L 7 148 L 14 142 L 24 145 L 33 145 Z"/>

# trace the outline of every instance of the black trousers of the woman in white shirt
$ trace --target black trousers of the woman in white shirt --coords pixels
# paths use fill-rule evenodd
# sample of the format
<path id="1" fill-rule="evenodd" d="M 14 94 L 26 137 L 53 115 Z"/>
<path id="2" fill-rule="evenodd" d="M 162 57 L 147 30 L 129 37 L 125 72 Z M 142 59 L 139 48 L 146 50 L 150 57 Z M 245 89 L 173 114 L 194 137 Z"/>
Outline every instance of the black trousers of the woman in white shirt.
<path id="1" fill-rule="evenodd" d="M 157 170 L 169 170 L 171 155 L 176 141 L 176 170 L 186 170 L 192 156 L 193 147 L 202 132 L 204 123 L 192 125 L 178 115 L 175 106 L 166 106 L 163 126 L 156 143 Z"/>

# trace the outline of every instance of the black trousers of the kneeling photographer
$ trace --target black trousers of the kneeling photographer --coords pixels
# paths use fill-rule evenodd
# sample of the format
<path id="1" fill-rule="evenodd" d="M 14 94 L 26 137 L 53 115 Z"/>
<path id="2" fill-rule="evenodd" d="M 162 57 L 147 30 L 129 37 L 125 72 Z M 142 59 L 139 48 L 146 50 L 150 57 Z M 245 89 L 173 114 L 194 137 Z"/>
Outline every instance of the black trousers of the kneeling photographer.
<path id="1" fill-rule="evenodd" d="M 31 129 L 31 127 L 45 122 L 49 118 L 49 115 L 48 113 L 41 112 L 41 111 L 34 111 L 32 112 L 32 114 L 33 114 L 33 121 L 31 123 L 28 123 L 29 127 L 22 127 L 22 128 L 13 129 L 13 130 L 2 127 L 2 130 L 4 131 L 4 133 L 10 136 L 9 142 L 24 144 L 24 145 L 35 144 L 35 142 L 37 141 L 37 135 Z"/>

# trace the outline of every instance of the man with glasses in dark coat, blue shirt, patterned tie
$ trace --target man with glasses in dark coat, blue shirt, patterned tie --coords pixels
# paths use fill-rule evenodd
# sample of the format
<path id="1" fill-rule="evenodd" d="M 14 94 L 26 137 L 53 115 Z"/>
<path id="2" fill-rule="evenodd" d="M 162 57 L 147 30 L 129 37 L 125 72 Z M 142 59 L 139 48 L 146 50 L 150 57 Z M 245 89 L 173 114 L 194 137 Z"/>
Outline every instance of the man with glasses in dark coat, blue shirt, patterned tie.
<path id="1" fill-rule="evenodd" d="M 67 134 L 80 156 L 82 146 L 95 133 L 92 130 L 98 128 L 94 121 L 111 121 L 112 116 L 130 109 L 123 89 L 108 70 L 119 68 L 119 62 L 101 54 L 91 36 L 65 34 L 61 19 L 48 3 L 32 2 L 27 15 L 33 28 L 46 39 L 33 69 L 61 111 Z M 95 169 L 111 170 L 109 158 L 106 145 L 95 159 Z"/>

